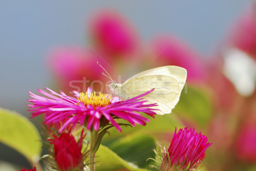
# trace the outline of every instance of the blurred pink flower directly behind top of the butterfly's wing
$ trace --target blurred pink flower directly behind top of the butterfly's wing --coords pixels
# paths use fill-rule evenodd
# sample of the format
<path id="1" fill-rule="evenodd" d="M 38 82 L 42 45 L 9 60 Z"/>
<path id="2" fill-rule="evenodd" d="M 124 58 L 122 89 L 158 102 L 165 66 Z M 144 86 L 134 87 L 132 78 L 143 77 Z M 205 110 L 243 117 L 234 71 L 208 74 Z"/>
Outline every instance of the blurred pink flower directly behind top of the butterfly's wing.
<path id="1" fill-rule="evenodd" d="M 177 38 L 158 36 L 153 39 L 148 49 L 150 66 L 176 65 L 188 71 L 188 81 L 204 80 L 205 70 L 201 56 Z"/>

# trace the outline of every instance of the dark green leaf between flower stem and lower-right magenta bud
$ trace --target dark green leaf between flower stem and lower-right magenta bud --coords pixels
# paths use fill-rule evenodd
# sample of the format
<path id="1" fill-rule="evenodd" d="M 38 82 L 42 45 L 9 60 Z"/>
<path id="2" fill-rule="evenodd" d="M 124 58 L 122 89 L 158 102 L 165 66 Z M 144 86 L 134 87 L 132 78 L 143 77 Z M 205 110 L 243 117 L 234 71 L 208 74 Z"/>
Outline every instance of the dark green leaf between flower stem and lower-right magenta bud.
<path id="1" fill-rule="evenodd" d="M 156 148 L 156 142 L 149 135 L 131 135 L 114 142 L 109 148 L 139 168 L 149 168 L 153 161 L 146 160 L 155 157 L 153 149 Z"/>

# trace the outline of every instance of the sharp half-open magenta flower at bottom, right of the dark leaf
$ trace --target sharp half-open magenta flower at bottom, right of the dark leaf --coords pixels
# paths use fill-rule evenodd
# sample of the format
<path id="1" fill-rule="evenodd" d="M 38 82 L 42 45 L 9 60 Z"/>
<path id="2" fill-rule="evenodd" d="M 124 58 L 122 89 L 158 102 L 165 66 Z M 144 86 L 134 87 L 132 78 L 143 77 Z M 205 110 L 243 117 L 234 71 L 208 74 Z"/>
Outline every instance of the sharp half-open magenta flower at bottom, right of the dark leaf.
<path id="1" fill-rule="evenodd" d="M 187 127 L 180 129 L 172 138 L 171 145 L 168 149 L 168 154 L 165 154 L 161 169 L 165 171 L 182 171 L 196 168 L 201 160 L 205 157 L 206 149 L 212 144 L 207 143 L 207 137 L 198 134 L 195 129 L 188 129 Z"/>

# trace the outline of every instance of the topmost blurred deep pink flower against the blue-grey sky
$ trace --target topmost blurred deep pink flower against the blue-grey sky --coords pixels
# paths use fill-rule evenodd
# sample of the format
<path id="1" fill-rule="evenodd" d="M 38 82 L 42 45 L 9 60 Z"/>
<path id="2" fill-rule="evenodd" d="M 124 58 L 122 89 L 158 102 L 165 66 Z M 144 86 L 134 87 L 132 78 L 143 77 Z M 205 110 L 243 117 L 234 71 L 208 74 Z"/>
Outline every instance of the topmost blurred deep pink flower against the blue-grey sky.
<path id="1" fill-rule="evenodd" d="M 103 10 L 92 17 L 89 35 L 96 49 L 111 56 L 131 58 L 138 50 L 137 34 L 121 13 Z"/>

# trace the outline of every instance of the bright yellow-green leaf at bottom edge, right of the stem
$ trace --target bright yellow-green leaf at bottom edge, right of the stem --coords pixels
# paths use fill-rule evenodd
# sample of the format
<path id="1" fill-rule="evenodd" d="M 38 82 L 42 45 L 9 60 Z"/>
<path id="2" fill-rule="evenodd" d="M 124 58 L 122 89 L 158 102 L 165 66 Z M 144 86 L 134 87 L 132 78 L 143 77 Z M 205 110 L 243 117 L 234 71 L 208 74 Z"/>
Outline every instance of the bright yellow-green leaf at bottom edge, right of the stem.
<path id="1" fill-rule="evenodd" d="M 99 165 L 96 165 L 96 171 L 115 171 L 122 168 L 126 168 L 130 171 L 148 171 L 147 169 L 138 168 L 137 165 L 125 161 L 104 145 L 99 146 L 95 161 L 99 163 Z"/>

